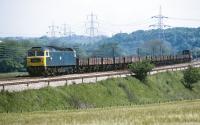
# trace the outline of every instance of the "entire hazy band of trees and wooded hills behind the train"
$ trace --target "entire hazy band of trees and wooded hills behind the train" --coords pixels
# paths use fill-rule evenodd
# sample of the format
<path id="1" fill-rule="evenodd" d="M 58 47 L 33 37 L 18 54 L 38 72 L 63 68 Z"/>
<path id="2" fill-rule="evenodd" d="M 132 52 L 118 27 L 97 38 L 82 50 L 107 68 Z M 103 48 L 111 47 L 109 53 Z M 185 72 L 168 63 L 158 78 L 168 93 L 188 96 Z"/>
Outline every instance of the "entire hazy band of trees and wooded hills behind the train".
<path id="1" fill-rule="evenodd" d="M 169 55 L 189 49 L 200 57 L 200 28 L 171 28 L 158 39 L 158 30 L 119 33 L 112 37 L 71 36 L 49 38 L 0 38 L 0 72 L 25 71 L 26 52 L 32 46 L 70 47 L 78 57 L 113 57 L 129 55 Z"/>

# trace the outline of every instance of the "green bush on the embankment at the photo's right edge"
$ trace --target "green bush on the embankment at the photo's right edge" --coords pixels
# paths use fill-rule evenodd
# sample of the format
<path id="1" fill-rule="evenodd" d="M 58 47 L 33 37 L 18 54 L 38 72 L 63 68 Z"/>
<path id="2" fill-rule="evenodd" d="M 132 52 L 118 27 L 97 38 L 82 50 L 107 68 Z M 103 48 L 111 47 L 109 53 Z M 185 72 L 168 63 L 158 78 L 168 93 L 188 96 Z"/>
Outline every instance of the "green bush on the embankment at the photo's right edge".
<path id="1" fill-rule="evenodd" d="M 187 70 L 183 72 L 183 78 L 185 82 L 185 87 L 192 89 L 192 84 L 200 80 L 200 71 L 198 68 L 189 66 Z"/>

